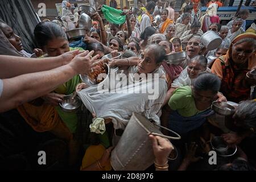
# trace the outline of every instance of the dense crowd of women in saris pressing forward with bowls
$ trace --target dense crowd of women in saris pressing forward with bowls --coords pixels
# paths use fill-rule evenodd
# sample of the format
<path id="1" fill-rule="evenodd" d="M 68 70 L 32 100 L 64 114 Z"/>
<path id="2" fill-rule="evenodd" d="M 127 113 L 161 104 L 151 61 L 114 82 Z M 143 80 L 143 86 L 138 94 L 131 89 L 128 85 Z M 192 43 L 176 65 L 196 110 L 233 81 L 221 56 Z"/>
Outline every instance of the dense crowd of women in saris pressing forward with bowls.
<path id="1" fill-rule="evenodd" d="M 5 168 L 15 161 L 18 169 L 40 169 L 34 164 L 35 154 L 31 151 L 46 150 L 52 153 L 48 169 L 69 166 L 81 170 L 111 170 L 111 151 L 132 113 L 139 113 L 181 136 L 181 140 L 172 140 L 172 144 L 161 137 L 150 136 L 156 170 L 250 170 L 256 166 L 256 80 L 250 73 L 256 70 L 256 30 L 255 23 L 246 30 L 249 11 L 241 10 L 224 25 L 217 15 L 218 3 L 210 3 L 205 15 L 199 18 L 195 6 L 186 1 L 178 19 L 171 15 L 174 2 L 167 1 L 163 9 L 159 4 L 146 2 L 140 16 L 125 11 L 123 24 L 107 22 L 98 11 L 92 15 L 92 28 L 75 40 L 68 40 L 65 33 L 77 26 L 77 21 L 69 16 L 63 22 L 43 20 L 36 25 L 31 36 L 38 46 L 34 49 L 38 59 L 75 49 L 93 51 L 98 59 L 107 54 L 115 57 L 119 52 L 119 59 L 102 61 L 110 68 L 118 67 L 118 72 L 125 74 L 127 80 L 131 73 L 157 73 L 159 96 L 148 100 L 136 93 L 123 96 L 99 93 L 76 75 L 53 92 L 1 113 L 1 120 L 6 121 L 1 121 L 3 136 L 0 139 L 3 148 L 0 159 Z M 70 4 L 63 1 L 64 15 L 71 12 L 69 7 Z M 80 16 L 80 11 L 75 13 Z M 158 14 L 160 23 L 153 23 Z M 216 32 L 222 39 L 220 47 L 213 51 L 201 43 L 201 36 L 207 31 Z M 22 39 L 26 38 L 20 38 L 5 23 L 0 23 L 0 32 L 1 39 L 8 40 L 7 43 L 1 40 L 1 47 L 10 47 L 10 52 L 14 50 L 19 56 L 31 56 L 32 52 L 26 52 L 22 46 Z M 167 59 L 166 55 L 183 51 L 187 52 L 183 61 L 174 64 Z M 143 79 L 138 82 L 152 84 Z M 128 82 L 130 84 L 136 83 Z M 94 113 L 85 105 L 77 113 L 61 110 L 59 103 L 73 93 L 78 93 L 81 99 L 83 94 L 93 93 L 86 97 L 95 99 Z M 236 113 L 229 117 L 214 113 L 213 101 L 236 102 Z M 95 121 L 101 119 L 104 132 L 91 132 Z M 170 135 L 164 130 L 163 133 Z M 24 136 L 20 138 L 20 135 Z M 230 146 L 237 146 L 236 155 L 218 159 L 220 163 L 214 167 L 208 164 L 213 136 L 222 136 Z M 160 149 L 157 143 L 162 145 Z M 176 154 L 175 159 L 169 160 L 170 153 Z"/>

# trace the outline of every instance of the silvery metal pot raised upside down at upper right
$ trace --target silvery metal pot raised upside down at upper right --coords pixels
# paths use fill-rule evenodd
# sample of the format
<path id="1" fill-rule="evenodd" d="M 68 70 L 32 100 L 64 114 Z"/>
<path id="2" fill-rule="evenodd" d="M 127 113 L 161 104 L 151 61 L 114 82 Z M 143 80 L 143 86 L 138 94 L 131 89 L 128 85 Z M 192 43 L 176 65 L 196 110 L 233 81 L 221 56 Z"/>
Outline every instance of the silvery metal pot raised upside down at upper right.
<path id="1" fill-rule="evenodd" d="M 214 31 L 208 31 L 201 36 L 200 42 L 208 51 L 212 51 L 221 45 L 222 39 Z"/>

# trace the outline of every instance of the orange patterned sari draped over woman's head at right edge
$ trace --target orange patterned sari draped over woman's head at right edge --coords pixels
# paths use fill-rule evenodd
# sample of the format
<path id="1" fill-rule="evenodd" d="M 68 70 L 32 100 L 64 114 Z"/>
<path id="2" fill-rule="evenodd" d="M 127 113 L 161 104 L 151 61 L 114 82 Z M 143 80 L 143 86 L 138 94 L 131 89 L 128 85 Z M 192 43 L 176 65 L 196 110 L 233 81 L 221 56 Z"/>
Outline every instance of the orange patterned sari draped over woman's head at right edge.
<path id="1" fill-rule="evenodd" d="M 246 82 L 246 73 L 256 66 L 256 54 L 253 53 L 247 60 L 247 68 L 240 69 L 232 60 L 232 46 L 241 39 L 253 38 L 256 35 L 245 33 L 237 36 L 231 43 L 226 55 L 219 57 L 212 66 L 212 73 L 220 77 L 221 89 L 228 101 L 240 102 L 250 97 L 250 85 Z"/>

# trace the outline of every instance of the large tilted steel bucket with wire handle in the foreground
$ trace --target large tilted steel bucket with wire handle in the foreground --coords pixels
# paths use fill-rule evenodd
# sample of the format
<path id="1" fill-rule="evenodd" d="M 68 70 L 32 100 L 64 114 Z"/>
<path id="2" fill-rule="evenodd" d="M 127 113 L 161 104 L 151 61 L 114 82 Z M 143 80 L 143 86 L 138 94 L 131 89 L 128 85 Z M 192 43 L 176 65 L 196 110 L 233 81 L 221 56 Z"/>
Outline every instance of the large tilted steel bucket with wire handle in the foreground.
<path id="1" fill-rule="evenodd" d="M 159 125 L 156 125 L 159 126 Z M 159 126 L 162 127 L 162 126 Z M 166 129 L 165 127 L 162 127 Z M 167 129 L 169 130 L 169 129 Z M 169 130 L 171 131 L 171 130 Z M 180 139 L 163 135 L 147 118 L 133 113 L 122 137 L 111 154 L 111 165 L 115 171 L 144 171 L 154 164 L 155 156 L 149 134 L 168 139 Z"/>

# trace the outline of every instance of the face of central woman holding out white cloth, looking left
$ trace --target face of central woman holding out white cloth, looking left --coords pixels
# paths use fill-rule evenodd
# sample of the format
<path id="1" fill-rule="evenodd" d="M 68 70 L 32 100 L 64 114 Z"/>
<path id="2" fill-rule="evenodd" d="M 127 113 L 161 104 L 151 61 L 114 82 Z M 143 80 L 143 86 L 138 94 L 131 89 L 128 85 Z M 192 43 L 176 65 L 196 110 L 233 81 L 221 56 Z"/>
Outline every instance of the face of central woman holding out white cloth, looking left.
<path id="1" fill-rule="evenodd" d="M 152 73 L 160 66 L 156 64 L 154 51 L 146 49 L 142 51 L 138 62 L 138 73 Z"/>

